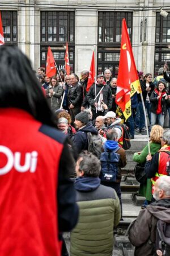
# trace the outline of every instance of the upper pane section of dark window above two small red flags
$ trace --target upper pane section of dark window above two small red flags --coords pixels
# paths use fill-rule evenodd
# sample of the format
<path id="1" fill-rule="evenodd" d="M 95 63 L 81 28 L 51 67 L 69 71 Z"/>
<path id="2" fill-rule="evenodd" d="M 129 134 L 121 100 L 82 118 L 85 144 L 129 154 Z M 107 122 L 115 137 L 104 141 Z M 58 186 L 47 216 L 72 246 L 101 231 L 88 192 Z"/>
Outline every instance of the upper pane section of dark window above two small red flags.
<path id="1" fill-rule="evenodd" d="M 73 11 L 42 11 L 41 42 L 74 42 Z"/>

